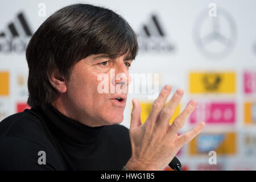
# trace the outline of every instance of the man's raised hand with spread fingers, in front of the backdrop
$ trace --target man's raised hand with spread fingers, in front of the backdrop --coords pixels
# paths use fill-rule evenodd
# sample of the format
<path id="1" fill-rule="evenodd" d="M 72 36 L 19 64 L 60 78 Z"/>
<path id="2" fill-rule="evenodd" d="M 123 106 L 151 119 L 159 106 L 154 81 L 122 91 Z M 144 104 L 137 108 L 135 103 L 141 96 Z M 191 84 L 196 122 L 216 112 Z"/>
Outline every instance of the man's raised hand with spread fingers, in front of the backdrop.
<path id="1" fill-rule="evenodd" d="M 205 123 L 201 122 L 187 133 L 177 135 L 189 115 L 195 110 L 197 102 L 189 101 L 183 112 L 170 125 L 169 121 L 184 92 L 178 89 L 164 107 L 170 93 L 171 85 L 164 86 L 143 125 L 141 106 L 137 100 L 133 100 L 129 131 L 132 154 L 126 164 L 128 170 L 162 170 L 184 144 L 190 142 L 203 130 Z"/>

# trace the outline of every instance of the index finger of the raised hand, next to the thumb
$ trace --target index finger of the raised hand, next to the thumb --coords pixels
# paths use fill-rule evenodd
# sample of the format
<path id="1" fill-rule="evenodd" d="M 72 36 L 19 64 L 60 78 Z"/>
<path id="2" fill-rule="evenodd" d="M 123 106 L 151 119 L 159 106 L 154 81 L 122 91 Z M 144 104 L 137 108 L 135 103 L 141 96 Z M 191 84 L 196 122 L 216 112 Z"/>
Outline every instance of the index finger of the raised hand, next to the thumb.
<path id="1" fill-rule="evenodd" d="M 156 100 L 154 101 L 150 114 L 148 115 L 148 118 L 151 121 L 156 121 L 156 118 L 158 117 L 160 111 L 163 109 L 164 103 L 166 102 L 167 97 L 169 96 L 170 93 L 171 93 L 171 85 L 164 86 L 158 98 L 156 98 Z"/>

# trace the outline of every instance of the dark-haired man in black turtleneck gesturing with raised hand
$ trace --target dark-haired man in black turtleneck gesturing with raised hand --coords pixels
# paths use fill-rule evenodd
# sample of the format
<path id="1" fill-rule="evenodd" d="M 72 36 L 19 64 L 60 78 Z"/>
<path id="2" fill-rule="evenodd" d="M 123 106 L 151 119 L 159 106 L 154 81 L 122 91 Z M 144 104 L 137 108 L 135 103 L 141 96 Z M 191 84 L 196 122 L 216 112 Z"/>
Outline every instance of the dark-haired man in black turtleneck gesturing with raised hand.
<path id="1" fill-rule="evenodd" d="M 133 100 L 130 130 L 123 121 L 127 92 L 100 93 L 99 75 L 127 90 L 138 43 L 121 16 L 103 7 L 64 7 L 38 28 L 27 47 L 28 105 L 0 123 L 2 170 L 161 170 L 204 127 L 177 135 L 196 107 L 189 102 L 170 126 L 183 96 L 171 86 L 155 100 L 141 124 Z M 114 69 L 115 76 L 110 72 Z M 120 76 L 117 77 L 117 75 Z"/>

